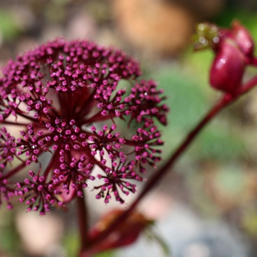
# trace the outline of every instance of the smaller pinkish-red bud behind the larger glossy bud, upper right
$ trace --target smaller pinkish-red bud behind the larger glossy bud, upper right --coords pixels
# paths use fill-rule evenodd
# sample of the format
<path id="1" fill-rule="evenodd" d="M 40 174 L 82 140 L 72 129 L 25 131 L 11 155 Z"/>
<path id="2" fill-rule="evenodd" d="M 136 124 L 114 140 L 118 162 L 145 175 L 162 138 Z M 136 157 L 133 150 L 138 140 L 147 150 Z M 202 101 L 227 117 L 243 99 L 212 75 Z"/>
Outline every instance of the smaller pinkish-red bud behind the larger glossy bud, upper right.
<path id="1" fill-rule="evenodd" d="M 232 36 L 241 51 L 246 56 L 251 57 L 254 51 L 254 42 L 248 30 L 242 26 L 239 21 L 232 23 Z"/>

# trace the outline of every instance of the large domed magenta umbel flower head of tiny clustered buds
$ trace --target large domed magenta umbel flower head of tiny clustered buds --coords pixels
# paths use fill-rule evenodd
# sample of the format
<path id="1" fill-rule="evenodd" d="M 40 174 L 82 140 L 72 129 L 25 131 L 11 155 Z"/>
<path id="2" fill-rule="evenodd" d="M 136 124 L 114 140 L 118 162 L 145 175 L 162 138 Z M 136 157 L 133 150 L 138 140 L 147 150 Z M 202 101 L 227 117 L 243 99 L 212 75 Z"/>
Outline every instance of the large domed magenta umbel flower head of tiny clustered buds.
<path id="1" fill-rule="evenodd" d="M 163 91 L 139 75 L 133 59 L 89 41 L 57 39 L 10 60 L 0 78 L 0 203 L 12 209 L 16 197 L 44 215 L 82 197 L 92 180 L 105 203 L 134 193 L 161 160 L 156 122 L 166 124 L 168 111 Z M 132 86 L 120 88 L 121 79 Z M 135 121 L 131 135 L 118 119 Z"/>

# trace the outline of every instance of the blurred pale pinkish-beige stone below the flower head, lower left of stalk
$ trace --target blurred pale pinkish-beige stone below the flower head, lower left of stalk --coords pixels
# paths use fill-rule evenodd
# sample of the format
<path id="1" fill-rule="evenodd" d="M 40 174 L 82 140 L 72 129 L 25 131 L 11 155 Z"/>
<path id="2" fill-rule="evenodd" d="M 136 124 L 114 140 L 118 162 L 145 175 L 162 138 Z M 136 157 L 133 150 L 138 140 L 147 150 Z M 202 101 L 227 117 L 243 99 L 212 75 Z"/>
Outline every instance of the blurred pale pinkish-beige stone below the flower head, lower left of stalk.
<path id="1" fill-rule="evenodd" d="M 47 249 L 56 248 L 62 239 L 62 221 L 53 214 L 41 217 L 34 212 L 19 212 L 16 226 L 26 251 L 33 256 L 45 255 Z"/>

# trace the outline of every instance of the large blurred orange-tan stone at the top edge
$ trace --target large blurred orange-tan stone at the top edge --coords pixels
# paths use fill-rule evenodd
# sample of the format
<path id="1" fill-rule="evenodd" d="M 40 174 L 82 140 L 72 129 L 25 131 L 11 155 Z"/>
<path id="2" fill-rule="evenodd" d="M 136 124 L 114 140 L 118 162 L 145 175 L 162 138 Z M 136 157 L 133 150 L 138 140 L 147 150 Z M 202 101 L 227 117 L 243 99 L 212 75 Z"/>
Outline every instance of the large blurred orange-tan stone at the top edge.
<path id="1" fill-rule="evenodd" d="M 176 55 L 194 30 L 192 15 L 167 1 L 116 0 L 116 24 L 137 48 L 160 55 Z"/>

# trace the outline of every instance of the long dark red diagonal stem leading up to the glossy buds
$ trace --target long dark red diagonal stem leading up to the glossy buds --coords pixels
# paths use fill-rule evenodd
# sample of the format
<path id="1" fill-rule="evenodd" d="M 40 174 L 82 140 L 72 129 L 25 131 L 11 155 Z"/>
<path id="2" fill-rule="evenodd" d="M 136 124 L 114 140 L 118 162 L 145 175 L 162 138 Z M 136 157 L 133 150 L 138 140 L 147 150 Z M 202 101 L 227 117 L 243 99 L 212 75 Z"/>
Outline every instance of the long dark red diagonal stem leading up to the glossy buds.
<path id="1" fill-rule="evenodd" d="M 180 155 L 188 148 L 190 143 L 196 138 L 198 133 L 203 129 L 203 127 L 210 121 L 214 116 L 216 116 L 224 107 L 234 102 L 238 97 L 245 94 L 247 91 L 252 89 L 257 84 L 257 76 L 251 79 L 247 84 L 241 87 L 234 95 L 225 94 L 224 97 L 210 109 L 210 111 L 204 116 L 204 118 L 196 125 L 196 127 L 191 130 L 178 148 L 171 154 L 168 162 L 157 171 L 150 180 L 146 183 L 144 189 L 137 199 L 132 203 L 132 205 L 117 219 L 113 221 L 110 226 L 100 233 L 91 244 L 99 243 L 104 240 L 106 236 L 111 234 L 118 225 L 120 225 L 135 209 L 140 200 L 148 193 L 150 189 L 157 185 L 157 183 L 163 178 L 163 176 L 170 171 L 171 167 L 174 165 L 175 161 L 180 157 Z"/>

